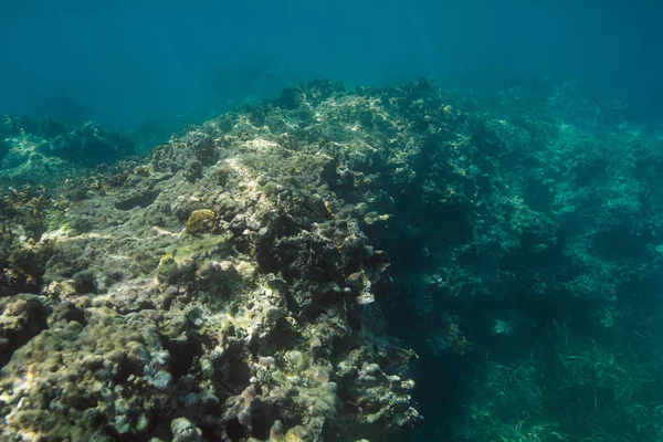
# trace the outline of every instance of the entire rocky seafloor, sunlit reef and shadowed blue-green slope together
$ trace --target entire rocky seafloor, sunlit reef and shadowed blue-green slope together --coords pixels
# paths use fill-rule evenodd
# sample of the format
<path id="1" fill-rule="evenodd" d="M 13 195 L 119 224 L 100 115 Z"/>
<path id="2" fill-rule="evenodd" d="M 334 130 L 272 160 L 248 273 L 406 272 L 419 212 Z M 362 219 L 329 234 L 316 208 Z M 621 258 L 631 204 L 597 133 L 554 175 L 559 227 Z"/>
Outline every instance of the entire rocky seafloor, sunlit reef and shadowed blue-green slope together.
<path id="1" fill-rule="evenodd" d="M 551 80 L 315 81 L 143 156 L 0 117 L 0 440 L 661 441 L 656 134 Z"/>

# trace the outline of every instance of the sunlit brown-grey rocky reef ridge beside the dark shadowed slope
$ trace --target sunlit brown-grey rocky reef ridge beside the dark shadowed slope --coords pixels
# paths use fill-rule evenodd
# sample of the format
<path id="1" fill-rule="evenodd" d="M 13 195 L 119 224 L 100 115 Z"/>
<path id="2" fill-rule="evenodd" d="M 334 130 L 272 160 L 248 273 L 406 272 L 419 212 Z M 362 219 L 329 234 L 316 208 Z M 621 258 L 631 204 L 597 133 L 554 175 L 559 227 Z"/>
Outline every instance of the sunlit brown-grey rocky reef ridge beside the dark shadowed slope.
<path id="1" fill-rule="evenodd" d="M 293 94 L 292 109 L 224 115 L 57 199 L 7 196 L 4 440 L 347 440 L 421 423 L 413 354 L 373 303 L 389 259 L 359 225 L 388 217 L 334 191 L 366 146 Z"/>

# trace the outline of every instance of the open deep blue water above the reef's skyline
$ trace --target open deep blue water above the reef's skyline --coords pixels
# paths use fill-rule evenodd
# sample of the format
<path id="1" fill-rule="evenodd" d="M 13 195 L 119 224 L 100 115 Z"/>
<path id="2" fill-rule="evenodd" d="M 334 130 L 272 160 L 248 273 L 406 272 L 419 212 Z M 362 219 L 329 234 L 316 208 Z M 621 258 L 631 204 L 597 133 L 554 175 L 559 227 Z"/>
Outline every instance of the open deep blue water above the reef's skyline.
<path id="1" fill-rule="evenodd" d="M 654 0 L 2 0 L 0 113 L 126 126 L 312 76 L 478 70 L 577 80 L 655 117 L 662 18 Z"/>

